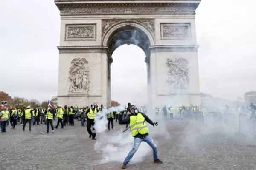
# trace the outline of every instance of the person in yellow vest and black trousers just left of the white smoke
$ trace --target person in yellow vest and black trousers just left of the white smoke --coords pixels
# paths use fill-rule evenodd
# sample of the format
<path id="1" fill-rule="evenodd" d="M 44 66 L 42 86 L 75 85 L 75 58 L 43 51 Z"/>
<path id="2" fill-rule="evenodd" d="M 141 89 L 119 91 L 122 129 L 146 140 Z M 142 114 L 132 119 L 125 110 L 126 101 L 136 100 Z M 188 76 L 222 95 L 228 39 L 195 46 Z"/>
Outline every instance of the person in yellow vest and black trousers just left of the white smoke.
<path id="1" fill-rule="evenodd" d="M 96 104 L 91 105 L 91 107 L 87 110 L 85 113 L 85 121 L 87 121 L 87 131 L 89 133 L 89 138 L 93 137 L 93 140 L 96 140 L 96 131 L 94 129 L 94 119 L 98 113 L 98 109 L 96 107 Z M 91 130 L 91 126 L 93 126 L 93 131 Z"/>

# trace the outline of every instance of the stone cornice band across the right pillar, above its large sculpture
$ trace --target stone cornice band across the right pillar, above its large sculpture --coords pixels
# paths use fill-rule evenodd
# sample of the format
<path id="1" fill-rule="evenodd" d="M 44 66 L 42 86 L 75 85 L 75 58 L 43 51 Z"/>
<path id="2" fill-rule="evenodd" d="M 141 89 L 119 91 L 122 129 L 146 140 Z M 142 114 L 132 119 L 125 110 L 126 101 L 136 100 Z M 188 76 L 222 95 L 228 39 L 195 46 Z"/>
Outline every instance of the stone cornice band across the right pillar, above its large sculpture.
<path id="1" fill-rule="evenodd" d="M 155 45 L 149 47 L 151 52 L 158 51 L 198 51 L 199 45 Z"/>

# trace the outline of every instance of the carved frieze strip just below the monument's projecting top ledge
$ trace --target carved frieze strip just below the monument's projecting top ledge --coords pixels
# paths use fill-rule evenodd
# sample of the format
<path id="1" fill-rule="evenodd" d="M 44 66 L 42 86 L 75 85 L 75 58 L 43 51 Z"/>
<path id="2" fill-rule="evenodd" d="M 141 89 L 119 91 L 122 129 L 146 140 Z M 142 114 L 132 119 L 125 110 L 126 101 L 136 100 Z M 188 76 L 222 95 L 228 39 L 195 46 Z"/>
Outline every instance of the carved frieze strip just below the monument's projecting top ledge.
<path id="1" fill-rule="evenodd" d="M 61 15 L 134 15 L 134 14 L 195 14 L 195 8 L 184 6 L 138 6 L 140 4 L 118 4 L 119 6 L 96 6 L 90 4 L 79 8 L 60 8 Z"/>

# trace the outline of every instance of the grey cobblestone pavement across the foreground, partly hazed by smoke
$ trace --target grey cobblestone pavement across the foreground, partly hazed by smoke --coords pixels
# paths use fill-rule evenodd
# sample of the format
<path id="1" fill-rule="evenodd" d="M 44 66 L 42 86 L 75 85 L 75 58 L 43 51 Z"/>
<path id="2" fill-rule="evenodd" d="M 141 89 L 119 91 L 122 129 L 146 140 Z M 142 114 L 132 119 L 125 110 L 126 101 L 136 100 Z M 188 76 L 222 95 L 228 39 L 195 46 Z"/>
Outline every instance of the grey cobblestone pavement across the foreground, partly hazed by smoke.
<path id="1" fill-rule="evenodd" d="M 25 132 L 20 125 L 15 130 L 7 127 L 7 133 L 0 133 L 0 170 L 119 170 L 121 162 L 95 163 L 102 157 L 94 150 L 96 141 L 88 138 L 80 122 L 75 123 L 74 127 L 58 129 L 53 134 L 40 134 L 46 130 L 44 125 L 32 126 L 32 132 L 28 126 Z M 124 127 L 117 125 L 115 131 L 120 128 Z M 169 121 L 166 128 L 169 139 L 152 135 L 164 163 L 154 164 L 149 153 L 143 162 L 133 163 L 132 159 L 127 169 L 256 169 L 256 145 L 246 136 L 224 133 L 221 128 L 207 131 L 205 125 L 185 121 Z M 114 132 L 111 131 L 109 137 L 111 133 Z M 101 134 L 97 138 L 100 139 Z"/>

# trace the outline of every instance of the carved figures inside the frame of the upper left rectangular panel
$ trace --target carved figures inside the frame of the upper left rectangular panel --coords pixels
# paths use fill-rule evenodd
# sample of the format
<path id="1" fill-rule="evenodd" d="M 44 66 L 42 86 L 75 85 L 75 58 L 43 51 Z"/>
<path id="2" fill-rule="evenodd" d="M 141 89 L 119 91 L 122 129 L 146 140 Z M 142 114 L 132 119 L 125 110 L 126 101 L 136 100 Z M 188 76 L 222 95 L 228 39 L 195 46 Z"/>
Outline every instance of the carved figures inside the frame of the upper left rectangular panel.
<path id="1" fill-rule="evenodd" d="M 67 25 L 66 39 L 95 39 L 95 25 Z"/>

